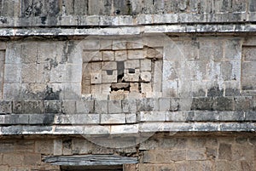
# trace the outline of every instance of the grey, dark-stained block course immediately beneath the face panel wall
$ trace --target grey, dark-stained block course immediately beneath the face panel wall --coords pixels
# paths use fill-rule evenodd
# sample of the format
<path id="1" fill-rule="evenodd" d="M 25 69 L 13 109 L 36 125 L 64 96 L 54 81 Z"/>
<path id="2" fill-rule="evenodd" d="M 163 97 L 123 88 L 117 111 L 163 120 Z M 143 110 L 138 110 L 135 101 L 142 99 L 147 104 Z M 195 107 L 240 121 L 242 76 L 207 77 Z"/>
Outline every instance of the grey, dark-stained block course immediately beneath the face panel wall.
<path id="1" fill-rule="evenodd" d="M 254 96 L 145 98 L 141 100 L 0 101 L 0 113 L 115 114 L 139 111 L 256 111 Z"/>

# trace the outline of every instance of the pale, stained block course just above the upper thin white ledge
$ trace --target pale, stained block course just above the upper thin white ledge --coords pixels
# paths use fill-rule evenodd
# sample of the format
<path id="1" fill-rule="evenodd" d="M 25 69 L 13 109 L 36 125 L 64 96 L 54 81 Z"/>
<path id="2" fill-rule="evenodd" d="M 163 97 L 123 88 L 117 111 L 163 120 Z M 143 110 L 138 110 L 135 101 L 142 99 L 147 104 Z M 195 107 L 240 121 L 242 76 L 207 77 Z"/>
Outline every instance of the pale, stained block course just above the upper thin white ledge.
<path id="1" fill-rule="evenodd" d="M 55 20 L 55 22 L 52 22 Z M 66 15 L 47 17 L 1 17 L 4 27 L 35 27 L 35 26 L 138 26 L 157 24 L 202 24 L 202 23 L 247 23 L 256 20 L 255 13 L 180 13 L 180 14 L 137 14 L 131 15 Z"/>

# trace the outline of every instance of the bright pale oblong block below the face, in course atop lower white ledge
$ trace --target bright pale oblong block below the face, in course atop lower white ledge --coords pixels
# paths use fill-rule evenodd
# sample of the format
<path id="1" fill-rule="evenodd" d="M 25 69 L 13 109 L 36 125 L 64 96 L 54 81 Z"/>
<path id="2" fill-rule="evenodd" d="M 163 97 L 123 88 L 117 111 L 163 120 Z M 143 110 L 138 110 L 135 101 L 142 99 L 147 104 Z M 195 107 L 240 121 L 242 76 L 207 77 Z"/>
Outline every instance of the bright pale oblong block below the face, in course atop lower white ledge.
<path id="1" fill-rule="evenodd" d="M 125 123 L 125 114 L 102 114 L 101 124 Z"/>

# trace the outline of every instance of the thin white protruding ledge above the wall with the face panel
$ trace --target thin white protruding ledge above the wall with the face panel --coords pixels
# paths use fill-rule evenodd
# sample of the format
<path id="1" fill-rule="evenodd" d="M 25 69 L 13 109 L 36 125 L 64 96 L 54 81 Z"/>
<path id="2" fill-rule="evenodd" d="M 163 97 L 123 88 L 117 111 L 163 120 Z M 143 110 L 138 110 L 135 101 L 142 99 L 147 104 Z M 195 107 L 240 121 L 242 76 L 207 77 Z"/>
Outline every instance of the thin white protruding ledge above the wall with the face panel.
<path id="1" fill-rule="evenodd" d="M 23 36 L 135 36 L 143 33 L 230 33 L 255 32 L 255 24 L 191 24 L 118 26 L 106 28 L 1 28 L 1 37 Z"/>

